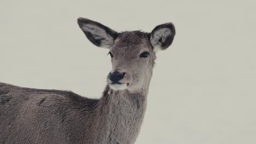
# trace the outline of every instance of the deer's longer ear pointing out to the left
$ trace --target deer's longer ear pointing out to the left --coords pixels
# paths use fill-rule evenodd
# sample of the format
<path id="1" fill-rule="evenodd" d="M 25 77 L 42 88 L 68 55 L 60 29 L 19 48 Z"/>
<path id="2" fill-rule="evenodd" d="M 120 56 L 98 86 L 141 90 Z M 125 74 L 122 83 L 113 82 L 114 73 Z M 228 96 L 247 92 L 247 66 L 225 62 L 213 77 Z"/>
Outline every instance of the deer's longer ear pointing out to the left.
<path id="1" fill-rule="evenodd" d="M 83 17 L 79 17 L 77 23 L 92 44 L 107 49 L 114 44 L 118 33 L 112 29 Z"/>

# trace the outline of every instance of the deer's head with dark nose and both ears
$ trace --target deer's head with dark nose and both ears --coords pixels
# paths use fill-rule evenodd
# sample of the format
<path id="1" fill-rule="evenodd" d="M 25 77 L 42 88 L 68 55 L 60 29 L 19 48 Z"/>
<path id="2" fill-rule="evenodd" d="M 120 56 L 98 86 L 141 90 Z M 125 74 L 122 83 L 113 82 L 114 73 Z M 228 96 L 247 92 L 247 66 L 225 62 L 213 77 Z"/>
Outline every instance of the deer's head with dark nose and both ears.
<path id="1" fill-rule="evenodd" d="M 172 23 L 156 26 L 151 33 L 118 33 L 82 17 L 78 18 L 78 25 L 92 44 L 109 49 L 112 70 L 107 76 L 107 82 L 114 91 L 136 92 L 147 89 L 156 52 L 167 49 L 175 35 Z"/>

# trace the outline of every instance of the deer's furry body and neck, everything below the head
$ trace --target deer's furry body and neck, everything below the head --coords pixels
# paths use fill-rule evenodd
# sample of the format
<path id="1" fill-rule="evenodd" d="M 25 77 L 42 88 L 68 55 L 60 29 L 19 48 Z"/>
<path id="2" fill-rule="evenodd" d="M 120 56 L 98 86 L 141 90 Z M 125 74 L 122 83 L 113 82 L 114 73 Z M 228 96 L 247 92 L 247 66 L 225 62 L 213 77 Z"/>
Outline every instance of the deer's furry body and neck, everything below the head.
<path id="1" fill-rule="evenodd" d="M 101 99 L 0 83 L 0 143 L 133 143 L 146 109 L 141 94 Z"/>

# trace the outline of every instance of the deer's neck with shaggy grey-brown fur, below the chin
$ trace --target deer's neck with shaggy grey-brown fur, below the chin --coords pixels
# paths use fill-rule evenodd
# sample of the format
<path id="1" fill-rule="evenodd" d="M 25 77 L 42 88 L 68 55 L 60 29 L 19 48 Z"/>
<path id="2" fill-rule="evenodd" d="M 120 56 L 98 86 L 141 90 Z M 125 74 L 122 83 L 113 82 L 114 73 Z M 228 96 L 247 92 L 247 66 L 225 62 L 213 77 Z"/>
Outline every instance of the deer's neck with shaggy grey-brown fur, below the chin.
<path id="1" fill-rule="evenodd" d="M 133 143 L 143 121 L 147 89 L 139 93 L 113 91 L 107 86 L 100 99 L 102 123 L 109 143 Z"/>

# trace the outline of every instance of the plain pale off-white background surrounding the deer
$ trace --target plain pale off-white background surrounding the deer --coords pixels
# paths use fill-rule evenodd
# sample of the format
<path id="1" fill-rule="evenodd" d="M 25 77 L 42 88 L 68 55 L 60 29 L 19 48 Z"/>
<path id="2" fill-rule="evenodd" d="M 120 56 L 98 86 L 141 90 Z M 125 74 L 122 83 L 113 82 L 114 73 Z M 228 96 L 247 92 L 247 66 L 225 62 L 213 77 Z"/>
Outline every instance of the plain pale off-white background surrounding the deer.
<path id="1" fill-rule="evenodd" d="M 100 98 L 107 49 L 77 17 L 116 31 L 173 22 L 157 53 L 139 143 L 256 143 L 255 1 L 0 1 L 0 81 Z"/>

